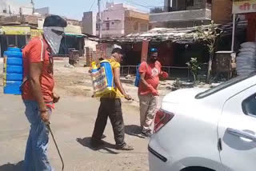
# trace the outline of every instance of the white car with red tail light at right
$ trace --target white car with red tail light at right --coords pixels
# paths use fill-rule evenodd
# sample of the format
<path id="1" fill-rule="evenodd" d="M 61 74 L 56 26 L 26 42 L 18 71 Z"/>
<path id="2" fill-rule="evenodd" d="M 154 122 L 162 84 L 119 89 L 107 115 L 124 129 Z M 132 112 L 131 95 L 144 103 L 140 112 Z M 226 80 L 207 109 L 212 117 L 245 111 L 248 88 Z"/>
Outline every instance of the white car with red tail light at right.
<path id="1" fill-rule="evenodd" d="M 164 97 L 149 144 L 150 171 L 255 171 L 256 74 Z"/>

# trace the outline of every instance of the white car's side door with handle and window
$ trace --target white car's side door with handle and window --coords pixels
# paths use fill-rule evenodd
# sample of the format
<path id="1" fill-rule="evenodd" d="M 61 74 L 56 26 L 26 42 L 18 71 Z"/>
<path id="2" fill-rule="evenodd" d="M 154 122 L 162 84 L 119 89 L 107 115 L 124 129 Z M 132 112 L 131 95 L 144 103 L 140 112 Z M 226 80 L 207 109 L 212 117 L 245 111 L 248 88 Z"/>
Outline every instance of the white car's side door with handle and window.
<path id="1" fill-rule="evenodd" d="M 229 171 L 256 169 L 256 85 L 230 97 L 218 123 L 222 164 Z"/>

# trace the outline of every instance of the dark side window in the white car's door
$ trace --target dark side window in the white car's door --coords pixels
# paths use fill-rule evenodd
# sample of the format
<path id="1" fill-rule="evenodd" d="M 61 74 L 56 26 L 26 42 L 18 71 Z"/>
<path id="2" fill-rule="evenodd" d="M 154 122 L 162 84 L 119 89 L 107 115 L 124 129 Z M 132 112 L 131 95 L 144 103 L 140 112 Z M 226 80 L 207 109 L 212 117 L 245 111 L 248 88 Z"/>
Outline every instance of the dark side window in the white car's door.
<path id="1" fill-rule="evenodd" d="M 256 117 L 256 93 L 242 101 L 242 111 L 246 115 Z"/>

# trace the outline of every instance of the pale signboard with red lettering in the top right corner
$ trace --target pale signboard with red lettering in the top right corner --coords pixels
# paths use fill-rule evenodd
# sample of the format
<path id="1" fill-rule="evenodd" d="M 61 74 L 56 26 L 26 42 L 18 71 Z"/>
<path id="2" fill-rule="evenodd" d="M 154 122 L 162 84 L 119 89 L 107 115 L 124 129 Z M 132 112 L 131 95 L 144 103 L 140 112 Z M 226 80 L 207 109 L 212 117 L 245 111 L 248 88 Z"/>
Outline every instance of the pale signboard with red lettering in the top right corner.
<path id="1" fill-rule="evenodd" d="M 233 0 L 233 14 L 256 13 L 256 0 Z"/>

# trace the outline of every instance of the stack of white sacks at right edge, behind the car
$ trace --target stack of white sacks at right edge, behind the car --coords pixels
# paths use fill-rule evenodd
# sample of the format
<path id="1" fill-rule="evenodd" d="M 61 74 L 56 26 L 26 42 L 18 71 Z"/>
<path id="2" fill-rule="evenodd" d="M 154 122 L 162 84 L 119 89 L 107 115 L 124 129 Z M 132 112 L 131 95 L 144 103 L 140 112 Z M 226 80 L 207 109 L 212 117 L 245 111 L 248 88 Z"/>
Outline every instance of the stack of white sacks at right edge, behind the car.
<path id="1" fill-rule="evenodd" d="M 237 57 L 238 75 L 250 74 L 256 70 L 256 42 L 242 43 Z"/>

